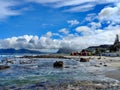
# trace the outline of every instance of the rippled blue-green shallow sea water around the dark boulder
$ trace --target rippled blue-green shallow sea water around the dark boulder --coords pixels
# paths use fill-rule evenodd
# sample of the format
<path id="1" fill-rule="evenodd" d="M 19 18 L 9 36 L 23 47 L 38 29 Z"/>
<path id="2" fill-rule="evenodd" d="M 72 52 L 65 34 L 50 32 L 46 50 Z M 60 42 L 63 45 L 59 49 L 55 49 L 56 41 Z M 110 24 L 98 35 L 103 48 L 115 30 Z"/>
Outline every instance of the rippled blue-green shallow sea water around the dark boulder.
<path id="1" fill-rule="evenodd" d="M 13 60 L 13 58 L 10 58 Z M 106 67 L 94 67 L 94 60 L 90 62 L 79 62 L 74 59 L 25 59 L 14 58 L 14 64 L 9 64 L 11 68 L 0 71 L 0 86 L 26 86 L 36 83 L 49 82 L 52 84 L 71 81 L 105 81 L 115 82 L 116 80 L 105 77 Z M 30 64 L 19 64 L 19 61 L 29 61 Z M 63 61 L 64 68 L 53 68 L 55 61 Z"/>

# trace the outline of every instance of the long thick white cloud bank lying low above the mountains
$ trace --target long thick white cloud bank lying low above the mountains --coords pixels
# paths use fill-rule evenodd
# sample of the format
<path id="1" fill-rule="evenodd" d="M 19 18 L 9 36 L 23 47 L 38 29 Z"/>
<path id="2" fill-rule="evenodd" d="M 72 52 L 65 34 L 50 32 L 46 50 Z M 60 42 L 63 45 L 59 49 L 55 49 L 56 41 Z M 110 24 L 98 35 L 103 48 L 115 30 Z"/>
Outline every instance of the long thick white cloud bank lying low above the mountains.
<path id="1" fill-rule="evenodd" d="M 19 37 L 7 38 L 0 40 L 0 48 L 26 48 L 26 49 L 58 49 L 61 47 L 69 47 L 81 50 L 92 45 L 113 44 L 115 35 L 120 35 L 120 26 L 109 26 L 105 30 L 90 31 L 89 27 L 80 26 L 76 28 L 78 32 L 84 32 L 83 36 L 68 34 L 62 39 L 53 39 L 48 37 L 48 33 L 44 36 L 24 35 Z M 92 33 L 86 35 L 85 33 Z M 53 34 L 52 34 L 53 35 Z"/>

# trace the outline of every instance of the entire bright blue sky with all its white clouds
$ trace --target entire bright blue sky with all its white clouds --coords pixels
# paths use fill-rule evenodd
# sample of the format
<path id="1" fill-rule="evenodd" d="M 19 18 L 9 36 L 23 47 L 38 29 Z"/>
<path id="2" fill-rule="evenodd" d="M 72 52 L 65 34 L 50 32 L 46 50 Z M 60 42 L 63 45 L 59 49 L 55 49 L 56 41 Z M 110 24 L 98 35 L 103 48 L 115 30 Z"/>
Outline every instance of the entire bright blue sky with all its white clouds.
<path id="1" fill-rule="evenodd" d="M 120 0 L 0 0 L 0 48 L 81 50 L 116 34 Z"/>

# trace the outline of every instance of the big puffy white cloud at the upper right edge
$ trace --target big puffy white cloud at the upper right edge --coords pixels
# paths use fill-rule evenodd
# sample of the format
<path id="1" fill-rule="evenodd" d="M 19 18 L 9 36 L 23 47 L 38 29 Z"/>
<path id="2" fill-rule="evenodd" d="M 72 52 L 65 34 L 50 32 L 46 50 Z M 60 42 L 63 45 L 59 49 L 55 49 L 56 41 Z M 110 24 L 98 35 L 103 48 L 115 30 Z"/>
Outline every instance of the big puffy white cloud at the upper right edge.
<path id="1" fill-rule="evenodd" d="M 120 3 L 115 7 L 106 7 L 99 13 L 101 22 L 120 23 Z"/>

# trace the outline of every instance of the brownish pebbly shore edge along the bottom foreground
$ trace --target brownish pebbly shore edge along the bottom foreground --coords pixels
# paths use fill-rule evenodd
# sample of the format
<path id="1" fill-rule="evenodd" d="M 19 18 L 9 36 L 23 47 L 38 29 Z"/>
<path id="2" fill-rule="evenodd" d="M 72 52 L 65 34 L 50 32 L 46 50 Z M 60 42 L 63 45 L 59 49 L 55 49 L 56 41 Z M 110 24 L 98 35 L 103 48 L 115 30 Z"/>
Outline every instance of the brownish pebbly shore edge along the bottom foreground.
<path id="1" fill-rule="evenodd" d="M 61 83 L 58 83 L 61 82 Z M 54 82 L 55 83 L 55 82 Z M 51 82 L 41 82 L 24 87 L 1 87 L 0 90 L 120 90 L 120 83 L 105 81 L 69 81 L 60 80 L 55 84 Z"/>

